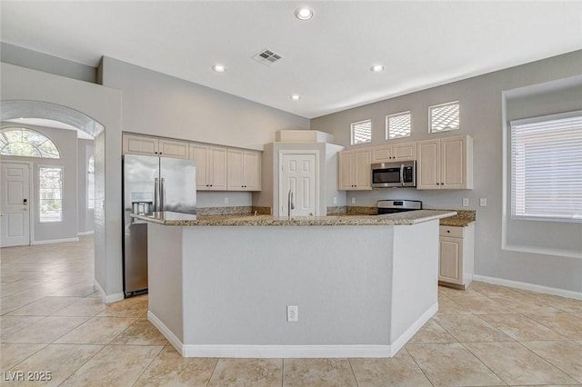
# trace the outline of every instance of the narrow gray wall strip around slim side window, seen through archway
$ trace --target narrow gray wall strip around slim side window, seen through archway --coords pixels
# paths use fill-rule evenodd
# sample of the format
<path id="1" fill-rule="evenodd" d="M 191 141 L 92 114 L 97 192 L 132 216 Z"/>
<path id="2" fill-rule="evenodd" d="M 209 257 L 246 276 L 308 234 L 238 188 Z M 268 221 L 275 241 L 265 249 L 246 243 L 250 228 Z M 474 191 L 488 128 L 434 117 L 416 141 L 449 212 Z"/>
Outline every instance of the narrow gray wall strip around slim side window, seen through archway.
<path id="1" fill-rule="evenodd" d="M 94 229 L 93 209 L 87 208 L 87 166 L 93 154 L 93 140 L 78 139 L 77 144 L 77 232 L 84 234 Z"/>

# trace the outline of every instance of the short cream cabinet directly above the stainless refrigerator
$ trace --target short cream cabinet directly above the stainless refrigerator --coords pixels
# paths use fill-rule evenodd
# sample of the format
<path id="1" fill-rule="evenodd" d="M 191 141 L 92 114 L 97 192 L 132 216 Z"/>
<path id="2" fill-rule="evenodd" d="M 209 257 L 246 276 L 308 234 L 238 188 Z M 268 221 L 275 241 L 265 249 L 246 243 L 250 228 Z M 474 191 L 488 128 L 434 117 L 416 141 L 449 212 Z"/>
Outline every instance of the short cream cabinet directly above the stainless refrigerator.
<path id="1" fill-rule="evenodd" d="M 140 134 L 123 134 L 123 154 L 146 154 L 177 159 L 188 158 L 186 141 L 168 140 Z"/>

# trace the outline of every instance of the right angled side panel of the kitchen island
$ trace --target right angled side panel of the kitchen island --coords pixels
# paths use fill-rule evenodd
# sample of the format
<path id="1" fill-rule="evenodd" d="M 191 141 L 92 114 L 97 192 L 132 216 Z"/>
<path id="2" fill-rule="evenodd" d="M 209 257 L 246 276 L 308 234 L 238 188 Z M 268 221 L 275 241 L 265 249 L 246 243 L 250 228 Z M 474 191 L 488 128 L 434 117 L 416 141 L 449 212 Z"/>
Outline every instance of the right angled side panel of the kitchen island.
<path id="1" fill-rule="evenodd" d="M 395 228 L 392 331 L 396 351 L 437 312 L 438 221 Z"/>

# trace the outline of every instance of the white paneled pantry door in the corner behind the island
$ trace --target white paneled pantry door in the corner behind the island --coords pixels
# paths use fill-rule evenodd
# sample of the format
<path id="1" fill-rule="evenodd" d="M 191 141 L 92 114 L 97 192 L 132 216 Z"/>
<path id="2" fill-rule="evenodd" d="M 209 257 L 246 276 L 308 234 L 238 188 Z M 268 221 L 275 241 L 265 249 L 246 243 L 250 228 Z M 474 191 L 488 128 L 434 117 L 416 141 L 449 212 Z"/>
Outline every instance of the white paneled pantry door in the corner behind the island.
<path id="1" fill-rule="evenodd" d="M 280 214 L 287 216 L 289 191 L 293 192 L 295 209 L 291 216 L 316 215 L 316 154 L 283 154 Z"/>

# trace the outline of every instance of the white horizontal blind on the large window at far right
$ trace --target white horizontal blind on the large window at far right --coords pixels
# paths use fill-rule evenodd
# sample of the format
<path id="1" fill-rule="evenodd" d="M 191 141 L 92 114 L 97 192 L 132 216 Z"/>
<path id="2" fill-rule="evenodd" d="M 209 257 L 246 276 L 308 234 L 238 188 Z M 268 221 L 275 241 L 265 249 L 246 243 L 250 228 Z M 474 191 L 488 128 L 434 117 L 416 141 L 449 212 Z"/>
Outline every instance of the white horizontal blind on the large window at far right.
<path id="1" fill-rule="evenodd" d="M 582 111 L 511 122 L 511 214 L 582 222 Z"/>

